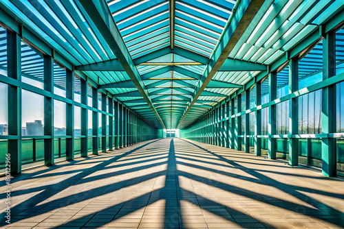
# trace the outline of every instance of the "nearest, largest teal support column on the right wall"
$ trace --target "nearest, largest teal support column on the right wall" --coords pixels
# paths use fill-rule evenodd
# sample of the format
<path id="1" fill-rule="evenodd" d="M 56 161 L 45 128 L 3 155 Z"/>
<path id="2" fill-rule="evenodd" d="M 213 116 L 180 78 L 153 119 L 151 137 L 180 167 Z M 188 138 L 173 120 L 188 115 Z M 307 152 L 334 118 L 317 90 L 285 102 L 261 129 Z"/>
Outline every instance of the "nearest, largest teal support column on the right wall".
<path id="1" fill-rule="evenodd" d="M 334 31 L 326 34 L 323 40 L 323 80 L 336 75 L 336 40 Z M 323 88 L 321 103 L 322 134 L 321 140 L 322 170 L 324 176 L 336 176 L 336 139 L 328 134 L 336 132 L 336 84 Z"/>

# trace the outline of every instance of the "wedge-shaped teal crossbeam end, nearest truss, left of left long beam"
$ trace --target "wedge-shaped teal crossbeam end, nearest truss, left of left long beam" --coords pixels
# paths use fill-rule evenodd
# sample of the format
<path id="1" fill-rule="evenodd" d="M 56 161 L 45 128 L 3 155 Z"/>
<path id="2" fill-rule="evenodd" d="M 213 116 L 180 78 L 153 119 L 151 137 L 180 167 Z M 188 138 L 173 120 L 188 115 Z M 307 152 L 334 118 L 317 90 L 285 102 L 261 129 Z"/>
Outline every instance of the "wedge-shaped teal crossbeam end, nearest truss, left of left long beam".
<path id="1" fill-rule="evenodd" d="M 78 65 L 75 67 L 78 71 L 125 71 L 122 64 L 117 59 L 96 62 L 93 64 Z"/>

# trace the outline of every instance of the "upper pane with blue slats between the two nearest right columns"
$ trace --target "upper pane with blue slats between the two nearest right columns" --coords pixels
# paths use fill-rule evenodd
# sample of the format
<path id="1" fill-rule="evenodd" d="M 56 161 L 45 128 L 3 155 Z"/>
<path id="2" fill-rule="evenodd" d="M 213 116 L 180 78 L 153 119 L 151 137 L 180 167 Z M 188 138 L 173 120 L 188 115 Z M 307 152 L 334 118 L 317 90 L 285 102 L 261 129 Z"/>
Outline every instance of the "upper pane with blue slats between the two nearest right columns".
<path id="1" fill-rule="evenodd" d="M 323 77 L 323 41 L 299 60 L 299 89 L 317 82 Z"/>

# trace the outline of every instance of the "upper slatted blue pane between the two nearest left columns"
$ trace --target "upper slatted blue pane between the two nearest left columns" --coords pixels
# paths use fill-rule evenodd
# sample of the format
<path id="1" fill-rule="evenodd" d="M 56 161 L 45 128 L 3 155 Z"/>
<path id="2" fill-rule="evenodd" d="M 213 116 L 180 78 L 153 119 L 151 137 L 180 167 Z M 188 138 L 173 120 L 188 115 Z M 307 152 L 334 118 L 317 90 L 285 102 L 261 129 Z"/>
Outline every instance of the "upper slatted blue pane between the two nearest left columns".
<path id="1" fill-rule="evenodd" d="M 44 87 L 43 53 L 21 42 L 21 81 L 38 88 Z"/>

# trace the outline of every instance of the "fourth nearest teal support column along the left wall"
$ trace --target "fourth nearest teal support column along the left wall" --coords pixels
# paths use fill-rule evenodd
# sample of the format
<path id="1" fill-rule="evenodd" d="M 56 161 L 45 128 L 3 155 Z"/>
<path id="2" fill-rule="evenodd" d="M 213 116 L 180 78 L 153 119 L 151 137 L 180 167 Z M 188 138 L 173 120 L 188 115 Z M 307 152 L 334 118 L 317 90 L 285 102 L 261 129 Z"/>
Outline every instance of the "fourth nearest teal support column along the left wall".
<path id="1" fill-rule="evenodd" d="M 81 80 L 81 104 L 87 106 L 87 82 Z M 92 106 L 92 104 L 89 104 Z M 88 110 L 81 108 L 81 156 L 88 154 Z"/>

